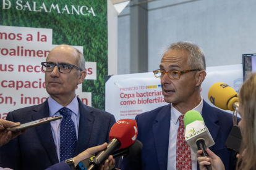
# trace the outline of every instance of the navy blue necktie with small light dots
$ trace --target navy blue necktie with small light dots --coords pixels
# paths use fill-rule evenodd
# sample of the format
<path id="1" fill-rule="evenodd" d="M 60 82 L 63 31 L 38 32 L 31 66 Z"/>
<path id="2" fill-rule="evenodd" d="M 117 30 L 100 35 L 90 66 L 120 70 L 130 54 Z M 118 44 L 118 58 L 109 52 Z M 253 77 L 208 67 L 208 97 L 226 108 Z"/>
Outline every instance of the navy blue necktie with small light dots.
<path id="1" fill-rule="evenodd" d="M 62 107 L 59 113 L 63 116 L 61 121 L 61 154 L 60 160 L 64 161 L 74 157 L 75 148 L 77 146 L 77 134 L 75 132 L 75 124 L 71 119 L 71 110 Z"/>

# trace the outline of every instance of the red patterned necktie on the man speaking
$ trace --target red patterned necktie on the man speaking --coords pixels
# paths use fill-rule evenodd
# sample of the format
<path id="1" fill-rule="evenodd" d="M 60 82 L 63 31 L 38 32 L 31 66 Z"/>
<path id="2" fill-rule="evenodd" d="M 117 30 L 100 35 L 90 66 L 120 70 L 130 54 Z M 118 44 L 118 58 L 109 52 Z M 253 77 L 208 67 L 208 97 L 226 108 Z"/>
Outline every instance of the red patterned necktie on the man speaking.
<path id="1" fill-rule="evenodd" d="M 179 116 L 179 129 L 176 142 L 176 170 L 191 170 L 191 152 L 184 137 L 184 115 Z"/>

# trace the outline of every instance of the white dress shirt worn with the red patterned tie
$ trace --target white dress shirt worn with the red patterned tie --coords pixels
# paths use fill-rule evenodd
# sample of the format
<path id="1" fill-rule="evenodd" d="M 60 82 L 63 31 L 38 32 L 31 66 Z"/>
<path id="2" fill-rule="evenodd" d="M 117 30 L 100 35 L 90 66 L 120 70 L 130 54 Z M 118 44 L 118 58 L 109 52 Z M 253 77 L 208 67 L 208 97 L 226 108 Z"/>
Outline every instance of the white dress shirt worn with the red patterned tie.
<path id="1" fill-rule="evenodd" d="M 197 107 L 192 110 L 198 111 L 202 114 L 203 110 L 203 97 L 201 96 L 201 102 L 197 105 Z M 171 126 L 169 132 L 169 147 L 168 147 L 168 170 L 176 170 L 176 141 L 177 141 L 177 129 L 179 128 L 179 116 L 181 116 L 181 112 L 176 110 L 171 104 Z M 192 161 L 192 170 L 197 170 L 197 154 L 191 151 L 191 161 Z"/>

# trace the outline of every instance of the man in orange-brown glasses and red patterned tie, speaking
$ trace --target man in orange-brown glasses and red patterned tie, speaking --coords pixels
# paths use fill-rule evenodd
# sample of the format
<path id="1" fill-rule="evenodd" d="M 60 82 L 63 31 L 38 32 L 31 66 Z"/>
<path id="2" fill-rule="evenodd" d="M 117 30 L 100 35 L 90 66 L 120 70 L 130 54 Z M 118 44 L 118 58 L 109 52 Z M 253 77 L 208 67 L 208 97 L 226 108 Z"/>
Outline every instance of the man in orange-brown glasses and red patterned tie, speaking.
<path id="1" fill-rule="evenodd" d="M 236 155 L 225 148 L 233 127 L 232 115 L 206 103 L 200 95 L 205 79 L 205 56 L 191 42 L 171 44 L 163 54 L 160 69 L 153 71 L 161 79 L 165 102 L 170 104 L 135 117 L 138 137 L 143 144 L 140 155 L 122 161 L 122 170 L 196 170 L 197 155 L 184 137 L 184 114 L 196 110 L 202 114 L 215 145 L 210 150 L 223 160 L 226 169 L 236 169 Z"/>

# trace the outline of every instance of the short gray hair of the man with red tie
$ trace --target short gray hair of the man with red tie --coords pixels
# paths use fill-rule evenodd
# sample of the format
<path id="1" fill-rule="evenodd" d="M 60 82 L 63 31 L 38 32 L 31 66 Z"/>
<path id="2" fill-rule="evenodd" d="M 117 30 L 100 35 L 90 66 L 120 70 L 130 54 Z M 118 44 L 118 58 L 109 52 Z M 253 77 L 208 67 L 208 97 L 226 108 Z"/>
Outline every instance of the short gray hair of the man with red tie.
<path id="1" fill-rule="evenodd" d="M 185 49 L 187 52 L 189 52 L 189 59 L 187 60 L 187 63 L 191 69 L 206 70 L 205 55 L 203 55 L 202 49 L 200 49 L 196 44 L 188 41 L 179 41 L 169 45 L 165 49 L 164 54 L 170 49 Z"/>

